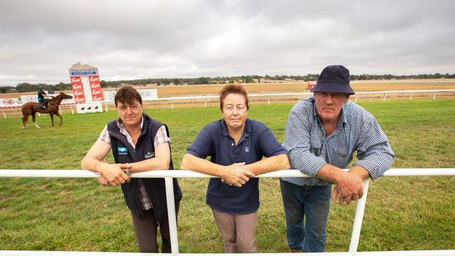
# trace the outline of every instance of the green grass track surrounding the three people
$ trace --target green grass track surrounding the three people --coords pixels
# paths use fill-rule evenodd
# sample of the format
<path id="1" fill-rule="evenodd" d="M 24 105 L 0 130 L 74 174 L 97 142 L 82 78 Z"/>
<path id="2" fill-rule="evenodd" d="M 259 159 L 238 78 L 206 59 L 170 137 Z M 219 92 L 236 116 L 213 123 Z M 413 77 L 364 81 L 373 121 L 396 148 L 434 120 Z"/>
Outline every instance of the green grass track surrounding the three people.
<path id="1" fill-rule="evenodd" d="M 455 166 L 455 101 L 385 101 L 360 104 L 373 113 L 395 152 L 393 168 Z M 292 105 L 251 106 L 249 118 L 269 126 L 279 141 Z M 218 108 L 147 110 L 169 126 L 174 165 L 200 129 L 221 118 Z M 63 115 L 62 127 L 37 118 L 0 120 L 0 169 L 80 169 L 80 160 L 116 112 Z M 29 120 L 30 122 L 31 120 Z M 113 162 L 111 156 L 108 161 Z M 181 253 L 223 253 L 208 206 L 207 179 L 180 179 Z M 0 178 L 0 250 L 137 252 L 130 212 L 120 187 L 94 179 Z M 287 252 L 279 182 L 260 180 L 258 251 Z M 355 204 L 330 206 L 330 252 L 349 250 Z M 455 249 L 455 177 L 386 177 L 370 183 L 359 251 Z"/>

